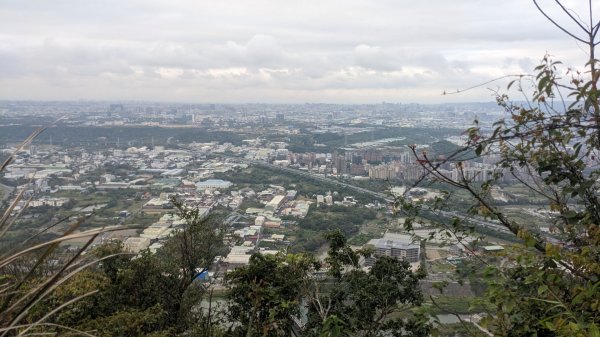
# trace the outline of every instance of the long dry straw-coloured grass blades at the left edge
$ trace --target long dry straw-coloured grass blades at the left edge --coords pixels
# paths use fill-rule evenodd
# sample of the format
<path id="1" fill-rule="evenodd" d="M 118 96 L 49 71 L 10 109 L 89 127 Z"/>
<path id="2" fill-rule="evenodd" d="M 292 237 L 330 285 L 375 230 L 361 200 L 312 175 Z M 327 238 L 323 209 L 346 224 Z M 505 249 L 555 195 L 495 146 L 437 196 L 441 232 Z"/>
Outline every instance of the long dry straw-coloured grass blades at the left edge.
<path id="1" fill-rule="evenodd" d="M 17 149 L 2 163 L 0 173 L 13 161 L 16 154 L 31 142 L 46 128 L 39 128 L 24 140 Z M 10 202 L 0 217 L 0 238 L 4 237 L 19 213 L 14 213 L 15 206 L 23 200 L 23 191 L 19 192 Z M 93 215 L 91 215 L 93 216 Z M 72 305 L 83 297 L 92 295 L 89 292 L 73 298 L 65 303 L 56 304 L 41 318 L 31 320 L 29 315 L 33 307 L 47 298 L 52 292 L 80 271 L 98 263 L 102 259 L 90 258 L 83 255 L 99 235 L 124 229 L 122 226 L 111 226 L 91 230 L 80 230 L 86 217 L 64 217 L 37 234 L 19 242 L 16 248 L 0 254 L 0 337 L 25 336 L 39 334 L 40 331 L 52 332 L 57 328 L 70 331 L 72 334 L 92 336 L 89 332 L 78 331 L 51 322 L 52 316 L 63 308 Z M 67 229 L 53 240 L 39 242 L 39 236 L 49 231 L 56 231 L 59 225 L 67 224 Z M 49 268 L 49 260 L 55 256 L 61 243 L 77 240 L 81 243 L 73 254 L 63 259 L 60 265 Z M 27 262 L 27 263 L 25 263 Z M 35 329 L 34 329 L 35 328 Z M 45 334 L 45 333 L 43 333 Z M 52 334 L 52 333 L 51 333 Z"/>

